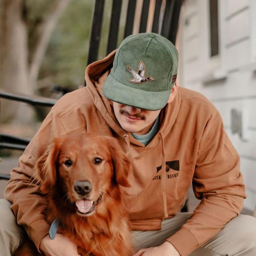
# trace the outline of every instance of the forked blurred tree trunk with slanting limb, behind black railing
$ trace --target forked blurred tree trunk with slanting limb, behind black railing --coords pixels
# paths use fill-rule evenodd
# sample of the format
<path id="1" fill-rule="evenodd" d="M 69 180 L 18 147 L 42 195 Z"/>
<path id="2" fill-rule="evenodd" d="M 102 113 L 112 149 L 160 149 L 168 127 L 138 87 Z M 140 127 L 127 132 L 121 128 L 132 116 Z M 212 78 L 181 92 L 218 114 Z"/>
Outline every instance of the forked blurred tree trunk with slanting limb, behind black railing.
<path id="1" fill-rule="evenodd" d="M 30 65 L 28 24 L 22 17 L 24 2 L 24 0 L 0 1 L 0 88 L 33 95 L 50 35 L 58 17 L 70 0 L 53 1 L 49 11 L 42 14 L 43 22 L 37 29 L 38 41 Z M 1 99 L 2 123 L 14 119 L 17 123 L 31 123 L 33 112 L 33 107 L 29 105 Z"/>

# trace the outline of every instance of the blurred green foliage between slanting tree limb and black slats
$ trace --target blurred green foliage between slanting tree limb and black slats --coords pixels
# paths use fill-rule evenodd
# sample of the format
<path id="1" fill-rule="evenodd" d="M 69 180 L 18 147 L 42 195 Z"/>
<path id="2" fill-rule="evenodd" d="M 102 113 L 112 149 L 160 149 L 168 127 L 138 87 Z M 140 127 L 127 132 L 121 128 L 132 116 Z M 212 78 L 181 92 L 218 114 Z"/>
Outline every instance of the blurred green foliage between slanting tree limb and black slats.
<path id="1" fill-rule="evenodd" d="M 51 36 L 39 79 L 62 86 L 83 84 L 94 1 L 72 0 Z"/>

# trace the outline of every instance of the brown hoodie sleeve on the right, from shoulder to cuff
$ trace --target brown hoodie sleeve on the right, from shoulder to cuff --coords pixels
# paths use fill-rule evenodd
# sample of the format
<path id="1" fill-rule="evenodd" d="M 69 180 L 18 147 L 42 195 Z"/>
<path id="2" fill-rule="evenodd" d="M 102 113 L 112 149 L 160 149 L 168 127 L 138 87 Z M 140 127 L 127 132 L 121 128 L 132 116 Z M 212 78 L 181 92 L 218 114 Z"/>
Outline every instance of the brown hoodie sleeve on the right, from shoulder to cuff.
<path id="1" fill-rule="evenodd" d="M 167 239 L 182 256 L 206 243 L 241 211 L 246 195 L 239 165 L 239 155 L 215 110 L 202 134 L 193 178 L 194 194 L 201 202 Z"/>

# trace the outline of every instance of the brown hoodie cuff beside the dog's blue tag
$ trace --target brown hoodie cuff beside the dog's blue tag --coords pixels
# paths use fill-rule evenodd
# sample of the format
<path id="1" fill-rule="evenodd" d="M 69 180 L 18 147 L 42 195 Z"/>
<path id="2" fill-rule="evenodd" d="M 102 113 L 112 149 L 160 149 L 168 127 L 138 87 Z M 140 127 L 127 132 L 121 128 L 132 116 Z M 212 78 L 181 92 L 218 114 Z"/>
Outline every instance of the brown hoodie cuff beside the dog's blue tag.
<path id="1" fill-rule="evenodd" d="M 29 238 L 34 242 L 38 252 L 41 240 L 49 234 L 50 226 L 45 219 L 37 219 L 29 224 Z"/>

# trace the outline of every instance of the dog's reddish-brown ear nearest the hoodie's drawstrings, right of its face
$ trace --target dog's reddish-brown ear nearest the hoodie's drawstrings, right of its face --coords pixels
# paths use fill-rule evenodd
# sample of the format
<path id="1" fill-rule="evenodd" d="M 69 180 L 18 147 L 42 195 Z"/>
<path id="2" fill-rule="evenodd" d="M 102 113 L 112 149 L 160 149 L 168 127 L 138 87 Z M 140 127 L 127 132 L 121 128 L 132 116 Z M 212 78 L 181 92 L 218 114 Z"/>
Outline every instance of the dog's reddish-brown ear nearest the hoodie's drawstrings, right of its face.
<path id="1" fill-rule="evenodd" d="M 111 139 L 109 142 L 111 157 L 115 166 L 116 182 L 124 187 L 130 187 L 128 176 L 132 174 L 132 164 L 129 158 L 121 149 L 117 140 Z"/>

